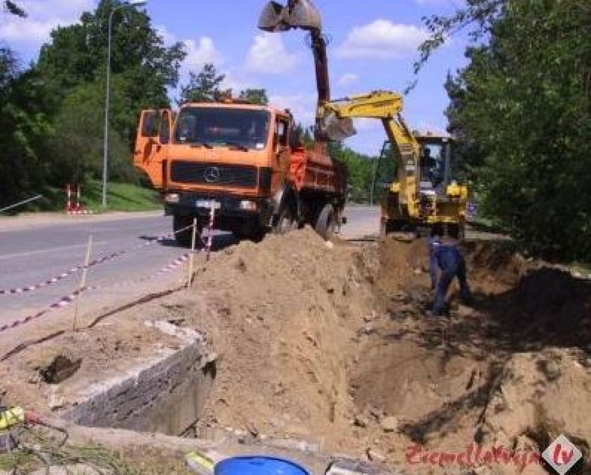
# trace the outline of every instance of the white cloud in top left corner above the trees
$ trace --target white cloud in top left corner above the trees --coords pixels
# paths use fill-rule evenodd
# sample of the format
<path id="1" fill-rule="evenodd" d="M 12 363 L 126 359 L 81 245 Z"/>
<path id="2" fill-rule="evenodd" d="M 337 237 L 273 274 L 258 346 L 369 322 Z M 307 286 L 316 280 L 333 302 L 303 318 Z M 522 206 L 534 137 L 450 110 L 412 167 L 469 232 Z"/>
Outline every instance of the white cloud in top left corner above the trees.
<path id="1" fill-rule="evenodd" d="M 0 38 L 11 45 L 38 48 L 50 39 L 51 30 L 76 22 L 93 0 L 21 0 L 27 18 L 0 15 Z"/>

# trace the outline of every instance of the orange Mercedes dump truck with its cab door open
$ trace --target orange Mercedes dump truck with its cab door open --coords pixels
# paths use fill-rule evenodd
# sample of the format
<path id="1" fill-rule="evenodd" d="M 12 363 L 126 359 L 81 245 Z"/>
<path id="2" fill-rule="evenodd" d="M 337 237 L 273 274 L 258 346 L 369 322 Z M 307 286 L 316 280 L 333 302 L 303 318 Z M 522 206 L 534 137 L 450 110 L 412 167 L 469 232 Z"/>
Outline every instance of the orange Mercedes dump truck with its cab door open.
<path id="1" fill-rule="evenodd" d="M 215 208 L 215 228 L 261 239 L 313 226 L 325 239 L 345 223 L 346 171 L 323 144 L 307 150 L 289 110 L 236 100 L 144 110 L 134 164 L 160 190 L 177 241 Z"/>

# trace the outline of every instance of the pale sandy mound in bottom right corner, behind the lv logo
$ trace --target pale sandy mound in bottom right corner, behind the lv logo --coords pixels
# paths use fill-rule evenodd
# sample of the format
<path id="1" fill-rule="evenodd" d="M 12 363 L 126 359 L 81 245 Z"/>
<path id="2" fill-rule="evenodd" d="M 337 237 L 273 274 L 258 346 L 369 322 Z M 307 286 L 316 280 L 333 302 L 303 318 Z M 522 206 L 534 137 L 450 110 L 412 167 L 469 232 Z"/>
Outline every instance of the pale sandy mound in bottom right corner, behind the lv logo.
<path id="1" fill-rule="evenodd" d="M 591 359 L 567 350 L 512 356 L 483 413 L 483 442 L 542 453 L 564 434 L 585 460 L 571 473 L 591 473 L 590 367 Z"/>

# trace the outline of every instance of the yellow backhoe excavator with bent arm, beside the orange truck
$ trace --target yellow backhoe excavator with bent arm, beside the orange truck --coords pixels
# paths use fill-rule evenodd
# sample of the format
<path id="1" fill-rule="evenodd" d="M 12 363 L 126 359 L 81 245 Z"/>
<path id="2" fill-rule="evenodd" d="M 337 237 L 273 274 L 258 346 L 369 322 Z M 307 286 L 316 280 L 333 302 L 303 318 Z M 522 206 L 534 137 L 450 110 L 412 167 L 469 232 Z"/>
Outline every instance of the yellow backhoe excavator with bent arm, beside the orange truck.
<path id="1" fill-rule="evenodd" d="M 402 118 L 402 97 L 390 91 L 330 100 L 323 104 L 320 134 L 340 141 L 356 134 L 352 119 L 378 119 L 388 140 L 375 167 L 379 188 L 381 235 L 422 233 L 442 225 L 462 238 L 468 190 L 452 179 L 452 144 L 448 135 L 413 132 Z"/>

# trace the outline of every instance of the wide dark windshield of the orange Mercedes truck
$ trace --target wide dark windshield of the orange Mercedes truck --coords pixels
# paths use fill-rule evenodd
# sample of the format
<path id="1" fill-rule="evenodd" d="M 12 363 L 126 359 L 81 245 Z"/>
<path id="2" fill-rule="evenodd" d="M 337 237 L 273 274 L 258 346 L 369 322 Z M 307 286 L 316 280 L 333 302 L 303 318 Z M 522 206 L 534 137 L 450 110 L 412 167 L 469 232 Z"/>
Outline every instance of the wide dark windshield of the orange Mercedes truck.
<path id="1" fill-rule="evenodd" d="M 178 114 L 174 142 L 261 150 L 267 144 L 268 130 L 265 110 L 187 107 Z"/>

